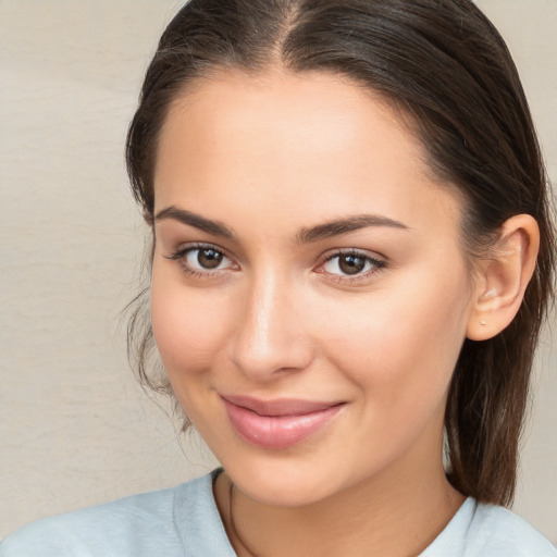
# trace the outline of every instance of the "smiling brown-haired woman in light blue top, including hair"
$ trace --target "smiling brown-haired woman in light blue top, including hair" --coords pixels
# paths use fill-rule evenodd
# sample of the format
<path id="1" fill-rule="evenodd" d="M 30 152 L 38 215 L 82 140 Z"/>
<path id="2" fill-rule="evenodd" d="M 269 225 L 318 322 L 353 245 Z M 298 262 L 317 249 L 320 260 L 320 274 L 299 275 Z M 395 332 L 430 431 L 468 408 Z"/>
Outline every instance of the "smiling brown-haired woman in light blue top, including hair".
<path id="1" fill-rule="evenodd" d="M 503 508 L 552 295 L 546 180 L 473 4 L 193 0 L 127 162 L 153 232 L 139 373 L 223 468 L 2 557 L 556 555 Z"/>

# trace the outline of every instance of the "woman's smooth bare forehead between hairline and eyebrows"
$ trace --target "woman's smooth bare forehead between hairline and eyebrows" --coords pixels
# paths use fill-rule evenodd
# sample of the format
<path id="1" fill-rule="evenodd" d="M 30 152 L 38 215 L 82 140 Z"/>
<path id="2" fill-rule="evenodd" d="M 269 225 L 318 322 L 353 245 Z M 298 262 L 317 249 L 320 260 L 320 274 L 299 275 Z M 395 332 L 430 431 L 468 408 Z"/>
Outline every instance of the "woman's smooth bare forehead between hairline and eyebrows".
<path id="1" fill-rule="evenodd" d="M 434 208 L 456 225 L 460 208 L 384 99 L 324 73 L 197 81 L 169 111 L 154 187 L 156 210 L 280 210 L 298 225 L 362 210 L 417 222 Z"/>

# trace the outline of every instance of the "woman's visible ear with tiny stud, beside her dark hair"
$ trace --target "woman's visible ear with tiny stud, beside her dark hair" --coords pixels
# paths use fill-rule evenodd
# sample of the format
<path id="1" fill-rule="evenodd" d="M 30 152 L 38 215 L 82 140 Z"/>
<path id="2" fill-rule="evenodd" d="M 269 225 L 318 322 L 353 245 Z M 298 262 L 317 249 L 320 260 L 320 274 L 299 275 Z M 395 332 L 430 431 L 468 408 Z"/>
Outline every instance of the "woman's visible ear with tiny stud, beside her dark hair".
<path id="1" fill-rule="evenodd" d="M 534 273 L 539 248 L 540 228 L 533 216 L 517 214 L 505 221 L 493 252 L 476 265 L 468 338 L 492 338 L 515 319 Z"/>

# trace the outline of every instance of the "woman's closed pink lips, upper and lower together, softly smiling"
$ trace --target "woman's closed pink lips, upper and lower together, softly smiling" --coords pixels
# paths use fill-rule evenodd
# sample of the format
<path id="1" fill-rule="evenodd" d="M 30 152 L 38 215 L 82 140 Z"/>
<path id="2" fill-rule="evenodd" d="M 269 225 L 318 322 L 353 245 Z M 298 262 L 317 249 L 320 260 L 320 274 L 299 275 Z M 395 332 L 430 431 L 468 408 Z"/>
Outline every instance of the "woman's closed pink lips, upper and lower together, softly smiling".
<path id="1" fill-rule="evenodd" d="M 285 448 L 301 443 L 324 428 L 343 403 L 310 400 L 260 400 L 221 395 L 236 432 L 248 443 L 265 448 Z"/>

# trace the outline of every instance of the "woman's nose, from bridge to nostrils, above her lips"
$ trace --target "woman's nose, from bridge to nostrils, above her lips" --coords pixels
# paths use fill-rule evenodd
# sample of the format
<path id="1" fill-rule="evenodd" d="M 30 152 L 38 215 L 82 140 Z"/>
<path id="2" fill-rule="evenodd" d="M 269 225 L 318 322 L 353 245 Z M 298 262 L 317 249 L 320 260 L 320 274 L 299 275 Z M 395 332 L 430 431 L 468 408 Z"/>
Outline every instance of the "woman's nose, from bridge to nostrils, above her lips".
<path id="1" fill-rule="evenodd" d="M 230 337 L 228 357 L 248 379 L 272 381 L 278 374 L 300 371 L 313 360 L 301 297 L 296 288 L 271 274 L 247 288 Z"/>

